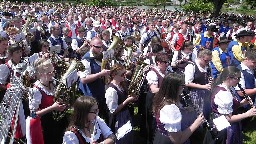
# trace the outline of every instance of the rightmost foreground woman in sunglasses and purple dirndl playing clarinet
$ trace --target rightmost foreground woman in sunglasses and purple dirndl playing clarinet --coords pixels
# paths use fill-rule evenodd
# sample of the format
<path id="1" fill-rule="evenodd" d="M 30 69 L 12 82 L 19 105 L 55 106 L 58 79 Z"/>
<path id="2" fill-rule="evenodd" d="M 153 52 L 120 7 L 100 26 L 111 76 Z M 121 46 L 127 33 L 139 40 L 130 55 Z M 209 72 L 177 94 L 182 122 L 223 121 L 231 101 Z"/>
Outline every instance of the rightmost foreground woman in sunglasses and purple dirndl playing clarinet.
<path id="1" fill-rule="evenodd" d="M 238 84 L 241 78 L 241 71 L 234 66 L 224 68 L 222 73 L 215 79 L 211 90 L 211 107 L 213 115 L 209 121 L 213 125 L 212 120 L 224 115 L 230 127 L 218 132 L 219 138 L 217 140 L 211 139 L 209 131 L 206 132 L 204 137 L 204 144 L 242 144 L 242 125 L 241 120 L 255 116 L 255 106 L 247 112 L 238 114 L 237 109 L 241 106 L 247 105 L 248 101 L 243 99 L 238 101 L 239 95 L 236 93 L 234 87 Z M 217 130 L 214 128 L 216 133 Z"/>

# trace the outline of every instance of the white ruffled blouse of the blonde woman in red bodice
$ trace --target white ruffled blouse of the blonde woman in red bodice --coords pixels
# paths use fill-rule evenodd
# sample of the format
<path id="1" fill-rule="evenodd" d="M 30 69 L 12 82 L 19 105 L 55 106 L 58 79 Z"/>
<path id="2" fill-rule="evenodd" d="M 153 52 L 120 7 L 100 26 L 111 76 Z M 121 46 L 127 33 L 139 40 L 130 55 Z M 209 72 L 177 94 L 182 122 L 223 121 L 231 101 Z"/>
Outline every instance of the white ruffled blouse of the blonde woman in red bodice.
<path id="1" fill-rule="evenodd" d="M 55 86 L 56 86 L 56 81 L 53 80 L 53 85 L 54 85 L 54 89 L 53 89 L 53 92 L 48 92 L 46 89 L 44 89 L 41 84 L 39 83 L 39 80 L 37 80 L 34 85 L 36 85 L 37 87 L 39 87 L 45 94 L 47 95 L 51 95 L 53 96 L 54 93 L 55 93 Z M 38 109 L 39 108 L 39 105 L 41 104 L 41 99 L 42 99 L 42 94 L 40 92 L 40 90 L 36 87 L 33 87 L 32 90 L 34 91 L 34 97 L 33 97 L 33 100 L 31 101 L 31 97 L 28 97 L 29 99 L 29 109 Z M 32 107 L 33 105 L 33 107 Z"/>

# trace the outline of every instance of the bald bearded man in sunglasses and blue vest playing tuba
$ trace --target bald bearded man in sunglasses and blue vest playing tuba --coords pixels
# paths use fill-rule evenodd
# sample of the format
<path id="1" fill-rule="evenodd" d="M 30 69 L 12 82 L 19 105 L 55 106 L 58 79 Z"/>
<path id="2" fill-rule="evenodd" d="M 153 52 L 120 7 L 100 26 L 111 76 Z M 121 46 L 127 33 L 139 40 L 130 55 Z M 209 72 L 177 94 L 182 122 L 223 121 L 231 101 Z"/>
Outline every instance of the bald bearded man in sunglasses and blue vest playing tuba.
<path id="1" fill-rule="evenodd" d="M 105 101 L 105 84 L 101 77 L 110 74 L 110 70 L 101 70 L 101 61 L 103 54 L 103 43 L 100 38 L 91 39 L 90 50 L 82 57 L 81 62 L 85 66 L 85 71 L 80 72 L 79 88 L 84 95 L 95 97 L 99 103 L 98 109 L 100 114 L 104 113 Z M 102 116 L 102 115 L 101 115 Z"/>

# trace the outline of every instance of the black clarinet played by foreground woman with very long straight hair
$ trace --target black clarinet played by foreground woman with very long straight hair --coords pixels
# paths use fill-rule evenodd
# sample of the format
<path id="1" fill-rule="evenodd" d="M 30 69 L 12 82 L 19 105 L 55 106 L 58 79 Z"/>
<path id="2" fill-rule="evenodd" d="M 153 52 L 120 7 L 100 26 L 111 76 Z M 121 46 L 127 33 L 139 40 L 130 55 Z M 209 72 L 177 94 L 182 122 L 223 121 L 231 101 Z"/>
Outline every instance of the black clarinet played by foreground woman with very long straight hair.
<path id="1" fill-rule="evenodd" d="M 196 92 L 195 92 L 196 93 Z M 182 92 L 182 94 L 183 94 L 183 92 Z M 190 94 L 193 94 L 193 93 L 190 93 Z M 190 104 L 191 104 L 191 106 L 194 108 L 194 110 L 197 112 L 197 114 L 198 115 L 200 115 L 200 110 L 195 106 L 195 104 L 192 102 L 192 100 L 190 99 L 190 94 L 183 94 L 185 97 L 186 97 L 186 100 L 187 100 L 187 102 L 189 102 Z M 212 129 L 213 129 L 213 127 L 211 127 L 210 126 L 210 124 L 208 123 L 208 121 L 205 119 L 204 120 L 205 122 L 204 122 L 204 124 L 206 125 L 206 128 L 208 129 L 208 131 L 211 133 L 211 135 L 212 135 L 212 139 L 213 140 L 217 140 L 219 137 L 218 137 L 218 134 L 216 134 L 216 133 L 214 133 L 213 131 L 212 131 Z"/>

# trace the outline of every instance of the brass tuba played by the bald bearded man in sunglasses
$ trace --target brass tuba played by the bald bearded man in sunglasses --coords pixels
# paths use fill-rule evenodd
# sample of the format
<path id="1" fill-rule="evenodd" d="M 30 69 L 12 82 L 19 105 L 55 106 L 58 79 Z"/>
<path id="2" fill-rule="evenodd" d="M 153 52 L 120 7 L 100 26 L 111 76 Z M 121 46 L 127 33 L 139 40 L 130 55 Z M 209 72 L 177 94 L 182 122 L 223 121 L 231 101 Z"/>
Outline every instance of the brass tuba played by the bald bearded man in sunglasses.
<path id="1" fill-rule="evenodd" d="M 124 45 L 124 41 L 121 38 L 119 38 L 118 36 L 113 35 L 113 41 L 112 41 L 112 43 L 110 44 L 110 46 L 108 47 L 107 50 L 116 49 L 116 48 L 118 48 L 120 46 L 123 46 L 123 45 Z M 106 67 L 108 61 L 110 61 L 110 60 L 105 59 L 105 60 L 101 61 L 101 70 L 104 70 L 106 68 L 107 69 L 110 68 L 110 65 L 108 67 Z M 111 62 L 109 62 L 109 63 L 111 63 Z M 107 77 L 102 77 L 102 80 L 105 84 L 108 82 Z"/>

